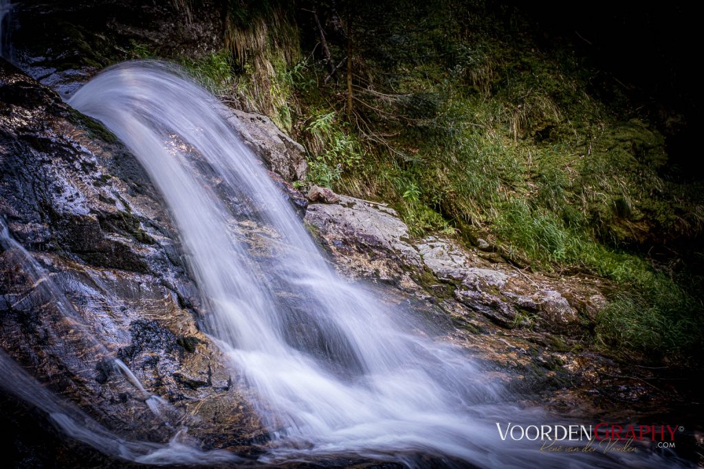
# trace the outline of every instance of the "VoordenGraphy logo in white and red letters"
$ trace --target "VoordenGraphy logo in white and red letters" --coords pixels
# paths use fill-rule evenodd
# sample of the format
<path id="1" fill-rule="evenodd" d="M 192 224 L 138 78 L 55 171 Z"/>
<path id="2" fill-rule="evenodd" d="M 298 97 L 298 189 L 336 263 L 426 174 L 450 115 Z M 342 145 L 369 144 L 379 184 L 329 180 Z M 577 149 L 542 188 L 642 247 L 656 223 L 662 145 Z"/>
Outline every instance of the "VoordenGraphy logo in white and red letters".
<path id="1" fill-rule="evenodd" d="M 636 451 L 633 442 L 652 441 L 658 448 L 674 448 L 675 435 L 683 432 L 679 425 L 517 425 L 496 423 L 502 441 L 542 442 L 541 451 Z M 570 442 L 583 442 L 579 445 Z M 598 448 L 594 446 L 598 444 Z M 568 445 L 568 446 L 565 446 Z"/>

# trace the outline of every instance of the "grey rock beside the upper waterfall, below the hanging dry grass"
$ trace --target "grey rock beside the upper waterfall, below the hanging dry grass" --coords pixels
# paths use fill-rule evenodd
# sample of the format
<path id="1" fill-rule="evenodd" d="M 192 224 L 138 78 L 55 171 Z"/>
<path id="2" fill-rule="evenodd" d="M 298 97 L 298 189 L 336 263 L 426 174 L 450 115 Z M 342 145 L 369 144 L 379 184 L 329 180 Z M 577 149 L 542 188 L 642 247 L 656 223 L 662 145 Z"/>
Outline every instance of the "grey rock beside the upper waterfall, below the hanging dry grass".
<path id="1" fill-rule="evenodd" d="M 234 128 L 269 169 L 289 182 L 306 179 L 308 161 L 300 143 L 284 134 L 269 117 L 242 110 L 232 112 L 236 116 L 231 119 Z"/>

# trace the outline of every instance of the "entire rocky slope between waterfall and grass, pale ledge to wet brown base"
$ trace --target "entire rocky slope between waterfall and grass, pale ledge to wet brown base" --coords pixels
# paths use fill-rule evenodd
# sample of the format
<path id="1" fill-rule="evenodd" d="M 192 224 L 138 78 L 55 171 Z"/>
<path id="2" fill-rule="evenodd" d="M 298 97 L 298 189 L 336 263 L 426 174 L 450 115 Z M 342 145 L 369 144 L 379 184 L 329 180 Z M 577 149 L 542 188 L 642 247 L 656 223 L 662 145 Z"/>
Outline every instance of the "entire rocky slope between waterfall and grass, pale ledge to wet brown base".
<path id="1" fill-rule="evenodd" d="M 633 418 L 671 412 L 693 396 L 675 386 L 676 369 L 631 367 L 590 349 L 589 329 L 606 302 L 598 278 L 523 271 L 488 243 L 468 250 L 448 238 L 413 239 L 385 204 L 344 195 L 310 203 L 304 221 L 342 275 L 410 303 L 438 340 L 472 350 L 527 402 Z"/>

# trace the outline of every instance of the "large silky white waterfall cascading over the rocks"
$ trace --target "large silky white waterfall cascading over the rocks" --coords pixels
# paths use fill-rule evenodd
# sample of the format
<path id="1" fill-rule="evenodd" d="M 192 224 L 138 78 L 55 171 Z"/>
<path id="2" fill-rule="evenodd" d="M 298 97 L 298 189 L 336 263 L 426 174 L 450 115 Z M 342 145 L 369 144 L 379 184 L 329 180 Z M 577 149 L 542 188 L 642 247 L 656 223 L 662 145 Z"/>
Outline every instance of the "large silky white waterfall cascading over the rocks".
<path id="1" fill-rule="evenodd" d="M 259 396 L 272 434 L 260 461 L 534 460 L 534 444 L 498 446 L 496 422 L 540 414 L 496 404 L 501 390 L 470 357 L 334 274 L 213 96 L 168 65 L 139 62 L 102 72 L 69 103 L 111 129 L 163 193 L 207 305 L 204 326 Z M 622 463 L 611 457 L 541 454 L 541 463 Z"/>

